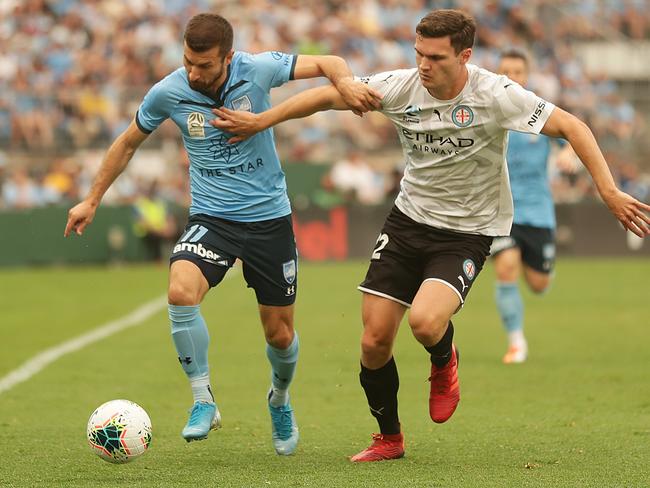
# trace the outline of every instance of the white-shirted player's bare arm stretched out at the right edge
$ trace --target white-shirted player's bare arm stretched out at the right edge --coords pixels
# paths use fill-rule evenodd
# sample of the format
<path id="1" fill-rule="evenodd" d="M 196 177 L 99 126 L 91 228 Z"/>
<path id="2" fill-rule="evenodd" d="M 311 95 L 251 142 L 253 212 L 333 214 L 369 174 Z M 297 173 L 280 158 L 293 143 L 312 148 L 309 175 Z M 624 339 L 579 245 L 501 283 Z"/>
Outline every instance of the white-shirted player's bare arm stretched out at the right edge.
<path id="1" fill-rule="evenodd" d="M 555 108 L 546 121 L 542 133 L 563 137 L 571 144 L 582 164 L 591 174 L 598 193 L 623 227 L 639 237 L 650 235 L 650 205 L 639 202 L 616 187 L 607 161 L 587 125 L 577 117 Z"/>

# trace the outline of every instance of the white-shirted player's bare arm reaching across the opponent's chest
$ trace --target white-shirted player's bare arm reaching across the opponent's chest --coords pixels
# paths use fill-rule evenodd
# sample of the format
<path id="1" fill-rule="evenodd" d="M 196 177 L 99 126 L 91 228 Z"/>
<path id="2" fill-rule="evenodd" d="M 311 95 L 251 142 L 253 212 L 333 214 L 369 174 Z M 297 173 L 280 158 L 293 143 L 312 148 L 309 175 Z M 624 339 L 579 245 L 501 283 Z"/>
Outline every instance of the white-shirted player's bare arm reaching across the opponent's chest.
<path id="1" fill-rule="evenodd" d="M 285 120 L 300 119 L 316 112 L 332 109 L 349 110 L 350 107 L 336 88 L 323 86 L 300 92 L 259 114 L 223 107 L 214 109 L 212 112 L 219 118 L 211 120 L 210 124 L 225 132 L 236 134 L 228 140 L 233 144 Z"/>

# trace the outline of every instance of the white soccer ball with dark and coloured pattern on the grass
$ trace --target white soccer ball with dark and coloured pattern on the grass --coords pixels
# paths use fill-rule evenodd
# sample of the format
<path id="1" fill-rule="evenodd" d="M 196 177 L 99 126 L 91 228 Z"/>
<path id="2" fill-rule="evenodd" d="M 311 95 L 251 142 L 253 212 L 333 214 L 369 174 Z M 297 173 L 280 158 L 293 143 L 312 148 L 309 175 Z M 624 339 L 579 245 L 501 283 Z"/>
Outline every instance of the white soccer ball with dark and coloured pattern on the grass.
<path id="1" fill-rule="evenodd" d="M 123 464 L 151 444 L 151 420 L 137 403 L 111 400 L 92 413 L 86 433 L 95 454 L 109 463 Z"/>

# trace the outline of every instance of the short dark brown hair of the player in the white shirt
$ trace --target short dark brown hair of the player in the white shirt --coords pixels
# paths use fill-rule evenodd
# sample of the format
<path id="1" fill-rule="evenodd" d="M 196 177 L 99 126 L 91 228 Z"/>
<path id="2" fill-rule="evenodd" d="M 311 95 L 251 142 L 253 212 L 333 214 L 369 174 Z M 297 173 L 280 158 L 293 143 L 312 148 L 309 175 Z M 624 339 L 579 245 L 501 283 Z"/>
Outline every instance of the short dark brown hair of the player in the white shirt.
<path id="1" fill-rule="evenodd" d="M 452 9 L 432 10 L 422 18 L 415 28 L 422 37 L 446 37 L 456 54 L 474 45 L 476 23 L 465 12 Z"/>

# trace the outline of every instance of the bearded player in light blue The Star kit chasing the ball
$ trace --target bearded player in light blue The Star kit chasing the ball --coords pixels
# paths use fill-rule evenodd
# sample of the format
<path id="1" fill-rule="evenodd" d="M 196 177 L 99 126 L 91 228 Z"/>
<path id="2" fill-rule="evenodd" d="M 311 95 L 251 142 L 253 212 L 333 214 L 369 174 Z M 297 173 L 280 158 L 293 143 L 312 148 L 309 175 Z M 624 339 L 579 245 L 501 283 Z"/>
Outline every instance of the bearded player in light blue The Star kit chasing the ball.
<path id="1" fill-rule="evenodd" d="M 355 82 L 336 56 L 235 52 L 232 27 L 216 14 L 190 19 L 184 41 L 184 67 L 149 90 L 134 121 L 109 148 L 88 196 L 70 210 L 64 234 L 84 231 L 136 149 L 170 118 L 189 154 L 192 196 L 187 227 L 170 258 L 168 290 L 172 338 L 194 396 L 182 435 L 188 442 L 205 439 L 220 427 L 199 307 L 239 258 L 255 290 L 271 363 L 273 444 L 278 454 L 292 454 L 298 427 L 288 389 L 299 348 L 293 325 L 298 266 L 284 173 L 271 131 L 232 145 L 230 135 L 208 120 L 219 107 L 263 112 L 270 108 L 270 89 L 292 79 L 326 76 L 357 113 L 379 107 L 379 95 Z"/>

